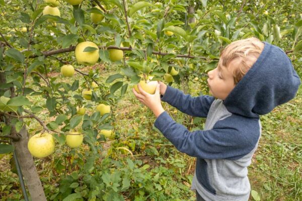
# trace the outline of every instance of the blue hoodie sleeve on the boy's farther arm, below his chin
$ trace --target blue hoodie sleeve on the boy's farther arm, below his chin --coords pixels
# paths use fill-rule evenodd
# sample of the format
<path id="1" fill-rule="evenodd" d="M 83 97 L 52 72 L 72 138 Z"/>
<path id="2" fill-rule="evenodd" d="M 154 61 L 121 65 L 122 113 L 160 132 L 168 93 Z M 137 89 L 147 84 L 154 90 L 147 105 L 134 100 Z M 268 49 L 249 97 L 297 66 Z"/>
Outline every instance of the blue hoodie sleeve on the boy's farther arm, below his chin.
<path id="1" fill-rule="evenodd" d="M 213 96 L 209 95 L 192 97 L 171 86 L 167 86 L 166 92 L 162 96 L 164 102 L 193 117 L 207 117 L 214 99 Z"/>

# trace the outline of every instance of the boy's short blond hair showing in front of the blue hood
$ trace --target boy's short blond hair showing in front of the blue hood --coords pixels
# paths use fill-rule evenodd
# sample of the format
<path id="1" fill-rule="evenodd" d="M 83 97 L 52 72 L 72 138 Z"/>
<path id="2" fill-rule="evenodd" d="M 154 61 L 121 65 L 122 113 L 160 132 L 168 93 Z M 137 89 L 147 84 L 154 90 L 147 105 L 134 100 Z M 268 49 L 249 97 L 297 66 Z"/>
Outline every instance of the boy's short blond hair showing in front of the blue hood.
<path id="1" fill-rule="evenodd" d="M 221 51 L 218 66 L 228 68 L 234 59 L 240 59 L 241 65 L 233 70 L 234 82 L 237 84 L 256 62 L 263 48 L 264 44 L 254 37 L 234 41 Z"/>

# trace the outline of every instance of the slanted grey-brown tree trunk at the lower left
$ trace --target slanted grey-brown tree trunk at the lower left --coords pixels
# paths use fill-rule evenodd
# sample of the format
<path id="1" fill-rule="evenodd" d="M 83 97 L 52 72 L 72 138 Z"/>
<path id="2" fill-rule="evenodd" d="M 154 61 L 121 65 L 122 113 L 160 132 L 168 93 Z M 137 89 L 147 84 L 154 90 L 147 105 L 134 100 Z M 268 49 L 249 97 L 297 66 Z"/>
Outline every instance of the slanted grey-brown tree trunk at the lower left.
<path id="1" fill-rule="evenodd" d="M 0 72 L 0 85 L 6 83 L 5 73 Z M 2 89 L 3 90 L 3 89 Z M 11 87 L 12 96 L 15 96 L 14 87 Z M 6 118 L 7 124 L 10 124 L 11 119 Z M 20 130 L 19 133 L 16 132 L 15 126 L 12 125 L 12 136 L 19 136 L 19 141 L 11 141 L 12 145 L 15 147 L 16 155 L 21 166 L 21 170 L 24 176 L 25 184 L 29 190 L 31 199 L 33 201 L 46 201 L 46 196 L 43 190 L 43 186 L 40 177 L 37 173 L 35 163 L 32 155 L 30 154 L 27 143 L 28 143 L 28 133 L 26 127 Z"/>

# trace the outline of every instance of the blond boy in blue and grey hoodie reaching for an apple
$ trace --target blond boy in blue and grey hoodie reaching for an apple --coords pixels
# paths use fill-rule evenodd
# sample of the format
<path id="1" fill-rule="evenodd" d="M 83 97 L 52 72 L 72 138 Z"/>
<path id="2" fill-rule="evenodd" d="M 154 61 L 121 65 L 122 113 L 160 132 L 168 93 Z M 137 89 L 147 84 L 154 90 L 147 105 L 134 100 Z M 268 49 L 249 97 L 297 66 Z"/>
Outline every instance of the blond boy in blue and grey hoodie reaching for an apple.
<path id="1" fill-rule="evenodd" d="M 292 99 L 300 79 L 280 48 L 249 38 L 226 46 L 207 82 L 213 96 L 191 97 L 162 82 L 153 95 L 140 86 L 140 94 L 133 93 L 156 115 L 155 127 L 179 151 L 197 158 L 192 181 L 197 200 L 248 200 L 247 167 L 261 135 L 259 116 Z M 204 130 L 190 132 L 177 124 L 161 100 L 206 117 Z"/>

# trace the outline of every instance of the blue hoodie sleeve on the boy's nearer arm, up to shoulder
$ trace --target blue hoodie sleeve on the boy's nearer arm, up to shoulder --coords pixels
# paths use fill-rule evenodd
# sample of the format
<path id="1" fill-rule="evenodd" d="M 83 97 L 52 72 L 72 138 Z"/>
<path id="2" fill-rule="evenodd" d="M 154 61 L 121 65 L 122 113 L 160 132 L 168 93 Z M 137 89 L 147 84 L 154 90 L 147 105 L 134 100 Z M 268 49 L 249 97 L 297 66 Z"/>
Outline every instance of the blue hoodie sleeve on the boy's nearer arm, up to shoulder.
<path id="1" fill-rule="evenodd" d="M 260 137 L 256 119 L 238 116 L 218 121 L 211 130 L 190 132 L 163 112 L 155 121 L 155 127 L 180 152 L 203 159 L 237 160 L 250 153 Z"/>

